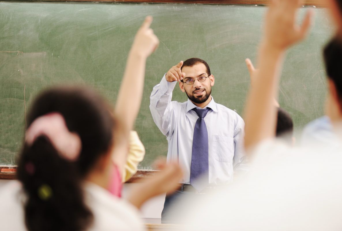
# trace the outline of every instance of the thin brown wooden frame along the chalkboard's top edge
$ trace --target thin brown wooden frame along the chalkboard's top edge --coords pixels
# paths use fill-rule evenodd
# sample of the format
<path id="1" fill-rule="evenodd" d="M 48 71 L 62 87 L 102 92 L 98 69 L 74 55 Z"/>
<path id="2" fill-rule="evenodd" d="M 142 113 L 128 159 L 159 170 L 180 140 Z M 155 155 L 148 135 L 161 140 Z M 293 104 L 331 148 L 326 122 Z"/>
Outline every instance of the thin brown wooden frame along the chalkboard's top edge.
<path id="1" fill-rule="evenodd" d="M 266 5 L 271 0 L 40 0 L 67 2 L 146 2 L 146 3 L 189 3 L 189 4 L 251 4 Z M 322 0 L 305 0 L 303 5 L 326 6 Z"/>

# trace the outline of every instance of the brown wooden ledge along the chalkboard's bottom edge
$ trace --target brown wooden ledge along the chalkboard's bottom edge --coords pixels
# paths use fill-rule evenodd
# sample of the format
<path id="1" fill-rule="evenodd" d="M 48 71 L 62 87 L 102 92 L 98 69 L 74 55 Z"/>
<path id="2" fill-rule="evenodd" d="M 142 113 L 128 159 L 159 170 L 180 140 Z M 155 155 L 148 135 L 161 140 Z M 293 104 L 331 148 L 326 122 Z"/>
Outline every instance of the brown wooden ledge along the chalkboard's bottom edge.
<path id="1" fill-rule="evenodd" d="M 16 179 L 16 166 L 0 166 L 0 179 L 2 180 L 15 180 Z M 158 170 L 138 170 L 126 183 L 132 183 L 153 175 Z"/>

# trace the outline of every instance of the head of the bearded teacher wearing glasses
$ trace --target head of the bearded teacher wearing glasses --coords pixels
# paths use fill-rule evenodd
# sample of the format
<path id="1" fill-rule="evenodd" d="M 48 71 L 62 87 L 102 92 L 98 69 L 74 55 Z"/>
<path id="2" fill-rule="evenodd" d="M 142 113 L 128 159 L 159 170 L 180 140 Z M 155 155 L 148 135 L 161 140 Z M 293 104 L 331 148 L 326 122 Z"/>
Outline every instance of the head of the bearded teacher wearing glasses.
<path id="1" fill-rule="evenodd" d="M 211 87 L 214 86 L 214 76 L 206 61 L 191 58 L 185 60 L 181 67 L 185 76 L 179 86 L 194 104 L 210 101 Z"/>

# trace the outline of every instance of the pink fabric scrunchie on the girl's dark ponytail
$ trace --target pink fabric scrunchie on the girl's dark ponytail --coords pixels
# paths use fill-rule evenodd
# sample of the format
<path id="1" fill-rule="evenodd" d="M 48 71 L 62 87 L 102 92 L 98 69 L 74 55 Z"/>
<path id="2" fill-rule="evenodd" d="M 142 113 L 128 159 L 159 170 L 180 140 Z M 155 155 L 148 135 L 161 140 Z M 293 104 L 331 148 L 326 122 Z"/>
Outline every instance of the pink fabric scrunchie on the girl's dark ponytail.
<path id="1" fill-rule="evenodd" d="M 47 136 L 65 159 L 75 161 L 78 158 L 81 152 L 81 139 L 77 133 L 68 130 L 60 113 L 49 113 L 35 119 L 26 131 L 25 142 L 32 145 L 41 135 Z"/>

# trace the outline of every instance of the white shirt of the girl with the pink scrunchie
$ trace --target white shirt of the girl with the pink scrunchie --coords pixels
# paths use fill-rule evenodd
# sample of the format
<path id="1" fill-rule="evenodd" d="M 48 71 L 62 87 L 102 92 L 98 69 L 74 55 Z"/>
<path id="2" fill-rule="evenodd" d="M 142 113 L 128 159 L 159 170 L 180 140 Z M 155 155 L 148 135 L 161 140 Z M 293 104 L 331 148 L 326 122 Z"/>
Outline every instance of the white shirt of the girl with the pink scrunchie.
<path id="1" fill-rule="evenodd" d="M 89 231 L 145 230 L 139 211 L 129 203 L 114 197 L 100 186 L 87 182 L 84 186 L 86 204 L 92 210 L 94 222 Z M 1 230 L 24 231 L 22 185 L 13 180 L 0 190 Z"/>

